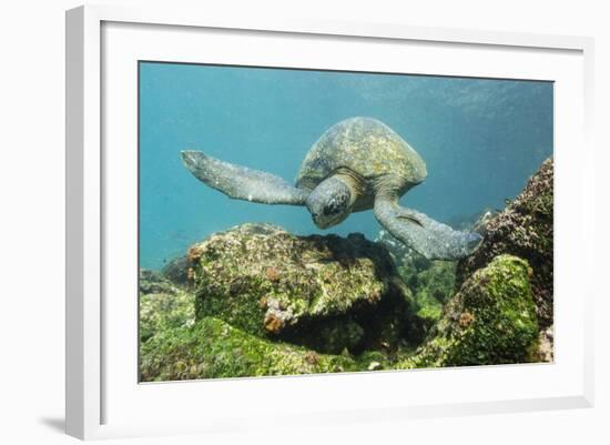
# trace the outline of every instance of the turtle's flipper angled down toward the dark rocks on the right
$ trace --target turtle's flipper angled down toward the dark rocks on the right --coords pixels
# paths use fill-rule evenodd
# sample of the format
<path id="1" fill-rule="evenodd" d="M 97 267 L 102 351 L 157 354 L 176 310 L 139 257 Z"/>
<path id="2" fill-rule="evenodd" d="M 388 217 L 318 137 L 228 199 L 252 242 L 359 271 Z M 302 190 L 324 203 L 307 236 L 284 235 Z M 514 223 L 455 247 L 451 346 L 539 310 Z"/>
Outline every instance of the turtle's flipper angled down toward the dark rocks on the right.
<path id="1" fill-rule="evenodd" d="M 428 260 L 459 260 L 482 241 L 475 232 L 458 232 L 424 213 L 398 205 L 397 198 L 377 196 L 375 216 L 387 231 Z"/>

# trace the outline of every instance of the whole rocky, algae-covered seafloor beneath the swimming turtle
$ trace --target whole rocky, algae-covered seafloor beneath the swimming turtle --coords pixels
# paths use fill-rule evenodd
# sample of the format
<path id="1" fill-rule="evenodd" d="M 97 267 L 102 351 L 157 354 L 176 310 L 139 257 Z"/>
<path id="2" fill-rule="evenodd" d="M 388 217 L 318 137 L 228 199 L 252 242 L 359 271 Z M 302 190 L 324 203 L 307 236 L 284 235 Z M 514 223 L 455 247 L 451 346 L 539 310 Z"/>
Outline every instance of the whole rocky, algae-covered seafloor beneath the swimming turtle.
<path id="1" fill-rule="evenodd" d="M 140 271 L 141 381 L 551 362 L 552 159 L 427 261 L 382 232 L 243 224 Z"/>

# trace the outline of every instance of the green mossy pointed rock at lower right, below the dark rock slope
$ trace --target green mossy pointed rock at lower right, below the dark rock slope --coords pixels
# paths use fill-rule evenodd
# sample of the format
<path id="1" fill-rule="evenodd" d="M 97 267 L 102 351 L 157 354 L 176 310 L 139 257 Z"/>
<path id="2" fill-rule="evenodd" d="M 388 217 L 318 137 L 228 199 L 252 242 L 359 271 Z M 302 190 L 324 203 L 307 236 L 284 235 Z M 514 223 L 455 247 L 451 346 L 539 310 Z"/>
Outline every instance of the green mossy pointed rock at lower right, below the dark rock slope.
<path id="1" fill-rule="evenodd" d="M 525 260 L 499 255 L 475 272 L 444 307 L 426 343 L 398 368 L 531 361 L 538 321 Z"/>

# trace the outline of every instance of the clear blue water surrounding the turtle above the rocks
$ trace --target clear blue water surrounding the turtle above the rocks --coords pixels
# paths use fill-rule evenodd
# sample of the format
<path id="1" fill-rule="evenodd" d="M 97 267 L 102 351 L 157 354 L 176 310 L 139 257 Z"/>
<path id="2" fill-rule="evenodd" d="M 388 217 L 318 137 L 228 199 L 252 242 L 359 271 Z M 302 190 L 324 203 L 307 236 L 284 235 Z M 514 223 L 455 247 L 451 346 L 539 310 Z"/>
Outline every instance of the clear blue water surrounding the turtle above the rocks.
<path id="1" fill-rule="evenodd" d="M 355 115 L 382 120 L 424 158 L 401 203 L 455 223 L 502 209 L 552 154 L 552 83 L 140 63 L 140 259 L 160 269 L 206 235 L 244 222 L 321 233 L 304 208 L 230 200 L 197 181 L 196 149 L 293 181 L 317 138 Z M 375 239 L 372 212 L 326 233 Z"/>

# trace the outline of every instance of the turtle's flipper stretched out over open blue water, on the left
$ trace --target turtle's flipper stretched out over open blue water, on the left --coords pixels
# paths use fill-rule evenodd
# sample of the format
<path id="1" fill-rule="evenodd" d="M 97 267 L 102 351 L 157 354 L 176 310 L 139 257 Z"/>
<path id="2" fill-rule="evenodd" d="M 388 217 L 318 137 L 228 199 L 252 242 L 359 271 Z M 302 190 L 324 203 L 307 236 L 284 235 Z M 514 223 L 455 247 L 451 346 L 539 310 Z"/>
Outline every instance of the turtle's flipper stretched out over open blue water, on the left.
<path id="1" fill-rule="evenodd" d="M 196 179 L 235 200 L 303 205 L 308 195 L 282 178 L 220 161 L 201 151 L 183 151 L 182 161 Z"/>

